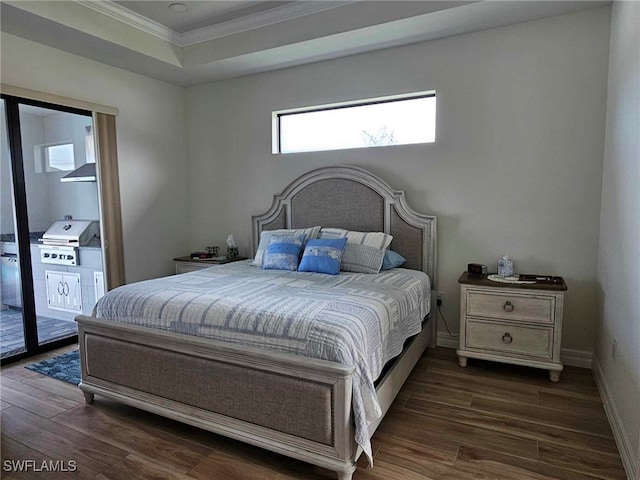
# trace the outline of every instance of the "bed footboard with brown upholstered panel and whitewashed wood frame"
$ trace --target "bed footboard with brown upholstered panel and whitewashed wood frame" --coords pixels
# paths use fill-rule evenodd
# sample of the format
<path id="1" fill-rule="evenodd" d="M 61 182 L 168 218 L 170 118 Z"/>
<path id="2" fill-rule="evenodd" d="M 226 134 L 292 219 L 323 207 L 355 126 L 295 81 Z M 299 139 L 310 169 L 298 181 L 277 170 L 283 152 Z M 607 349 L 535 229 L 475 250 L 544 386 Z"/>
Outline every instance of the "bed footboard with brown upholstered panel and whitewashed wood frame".
<path id="1" fill-rule="evenodd" d="M 76 321 L 87 401 L 105 395 L 340 478 L 355 470 L 353 367 L 86 316 Z"/>

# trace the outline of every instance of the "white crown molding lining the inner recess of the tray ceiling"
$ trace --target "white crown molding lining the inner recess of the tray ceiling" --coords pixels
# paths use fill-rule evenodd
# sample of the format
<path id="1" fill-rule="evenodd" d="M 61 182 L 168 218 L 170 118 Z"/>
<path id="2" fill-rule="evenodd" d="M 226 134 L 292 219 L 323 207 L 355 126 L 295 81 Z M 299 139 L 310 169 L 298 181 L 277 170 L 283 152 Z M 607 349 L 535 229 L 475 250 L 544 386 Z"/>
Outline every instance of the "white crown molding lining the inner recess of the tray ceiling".
<path id="1" fill-rule="evenodd" d="M 171 43 L 177 47 L 188 47 L 198 43 L 215 40 L 217 38 L 247 32 L 257 28 L 273 25 L 288 20 L 324 12 L 352 3 L 357 0 L 327 1 L 327 2 L 292 2 L 281 7 L 272 8 L 263 12 L 257 12 L 239 17 L 226 22 L 221 22 L 208 27 L 198 28 L 189 32 L 179 33 L 164 25 L 129 10 L 112 0 L 74 0 L 75 3 L 89 8 L 95 12 L 118 20 L 130 27 L 137 28 L 149 35 Z"/>

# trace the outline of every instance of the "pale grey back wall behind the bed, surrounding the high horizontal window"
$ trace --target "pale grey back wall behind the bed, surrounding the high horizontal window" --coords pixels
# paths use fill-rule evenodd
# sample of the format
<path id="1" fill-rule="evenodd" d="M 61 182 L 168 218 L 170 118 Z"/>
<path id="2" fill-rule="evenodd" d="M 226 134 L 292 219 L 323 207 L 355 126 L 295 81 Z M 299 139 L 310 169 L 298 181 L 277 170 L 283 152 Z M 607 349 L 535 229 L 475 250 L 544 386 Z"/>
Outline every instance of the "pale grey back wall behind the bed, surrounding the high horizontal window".
<path id="1" fill-rule="evenodd" d="M 469 262 L 565 276 L 563 347 L 592 352 L 609 8 L 187 91 L 192 249 L 234 233 L 299 175 L 368 168 L 438 215 L 438 284 L 458 330 Z M 435 144 L 271 154 L 271 112 L 435 89 Z M 444 331 L 444 328 L 442 328 Z"/>

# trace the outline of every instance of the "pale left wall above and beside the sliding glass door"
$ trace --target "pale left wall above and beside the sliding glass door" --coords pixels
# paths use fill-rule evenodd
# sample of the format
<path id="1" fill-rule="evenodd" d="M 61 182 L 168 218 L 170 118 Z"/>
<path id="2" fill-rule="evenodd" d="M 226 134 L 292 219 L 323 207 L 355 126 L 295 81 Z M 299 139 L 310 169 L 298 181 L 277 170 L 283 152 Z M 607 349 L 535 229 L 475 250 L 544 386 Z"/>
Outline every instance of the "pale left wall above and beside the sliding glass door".
<path id="1" fill-rule="evenodd" d="M 126 280 L 171 273 L 189 245 L 184 89 L 12 35 L 1 40 L 3 83 L 120 110 Z"/>

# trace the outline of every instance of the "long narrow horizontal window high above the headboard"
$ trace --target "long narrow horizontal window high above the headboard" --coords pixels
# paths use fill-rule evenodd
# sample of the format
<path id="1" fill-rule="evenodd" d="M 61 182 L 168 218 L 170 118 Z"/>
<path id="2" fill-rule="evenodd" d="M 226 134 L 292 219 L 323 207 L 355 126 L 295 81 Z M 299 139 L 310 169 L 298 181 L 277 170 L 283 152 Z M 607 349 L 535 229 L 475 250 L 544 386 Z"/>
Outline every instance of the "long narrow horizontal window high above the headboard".
<path id="1" fill-rule="evenodd" d="M 433 143 L 435 136 L 434 91 L 273 112 L 273 153 Z"/>

